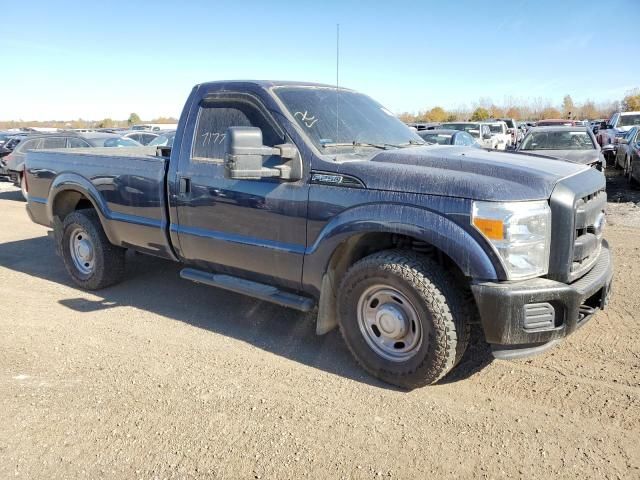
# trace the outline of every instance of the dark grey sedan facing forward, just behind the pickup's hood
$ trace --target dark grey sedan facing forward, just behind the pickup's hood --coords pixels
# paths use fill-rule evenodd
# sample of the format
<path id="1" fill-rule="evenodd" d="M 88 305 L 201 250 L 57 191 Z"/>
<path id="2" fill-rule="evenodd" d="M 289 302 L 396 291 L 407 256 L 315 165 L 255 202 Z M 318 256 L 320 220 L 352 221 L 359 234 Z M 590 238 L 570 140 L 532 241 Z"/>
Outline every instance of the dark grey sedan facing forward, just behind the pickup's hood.
<path id="1" fill-rule="evenodd" d="M 540 153 L 604 170 L 605 159 L 591 129 L 587 127 L 534 127 L 516 149 Z"/>

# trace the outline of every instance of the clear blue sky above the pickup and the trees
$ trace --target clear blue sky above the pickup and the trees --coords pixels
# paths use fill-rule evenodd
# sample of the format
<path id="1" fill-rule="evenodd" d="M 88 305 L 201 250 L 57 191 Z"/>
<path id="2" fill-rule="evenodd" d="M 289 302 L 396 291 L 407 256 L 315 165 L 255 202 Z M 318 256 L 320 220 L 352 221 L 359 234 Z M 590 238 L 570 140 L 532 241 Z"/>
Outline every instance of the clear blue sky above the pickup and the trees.
<path id="1" fill-rule="evenodd" d="M 336 23 L 340 83 L 395 112 L 480 97 L 615 100 L 640 87 L 640 0 L 30 0 L 2 10 L 1 120 L 177 116 L 208 80 L 333 83 Z"/>

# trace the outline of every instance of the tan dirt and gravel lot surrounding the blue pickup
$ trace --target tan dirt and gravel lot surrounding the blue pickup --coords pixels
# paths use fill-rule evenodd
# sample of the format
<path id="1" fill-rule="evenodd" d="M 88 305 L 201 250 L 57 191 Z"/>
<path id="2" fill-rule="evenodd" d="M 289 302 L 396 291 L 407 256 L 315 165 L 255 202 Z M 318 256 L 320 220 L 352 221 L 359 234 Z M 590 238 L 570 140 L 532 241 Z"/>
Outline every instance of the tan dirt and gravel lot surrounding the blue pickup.
<path id="1" fill-rule="evenodd" d="M 0 478 L 640 478 L 640 195 L 610 180 L 610 308 L 531 360 L 476 335 L 409 393 L 311 317 L 168 262 L 76 289 L 0 183 Z"/>

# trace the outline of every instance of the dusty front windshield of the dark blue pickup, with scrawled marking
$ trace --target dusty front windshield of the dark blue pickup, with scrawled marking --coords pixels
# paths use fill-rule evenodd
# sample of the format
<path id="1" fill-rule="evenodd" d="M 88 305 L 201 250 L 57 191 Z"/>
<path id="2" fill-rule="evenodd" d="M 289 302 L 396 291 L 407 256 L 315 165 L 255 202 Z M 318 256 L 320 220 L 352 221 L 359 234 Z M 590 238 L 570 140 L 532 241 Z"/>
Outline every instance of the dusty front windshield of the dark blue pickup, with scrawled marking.
<path id="1" fill-rule="evenodd" d="M 393 113 L 361 93 L 329 87 L 278 87 L 274 92 L 319 149 L 424 144 Z"/>

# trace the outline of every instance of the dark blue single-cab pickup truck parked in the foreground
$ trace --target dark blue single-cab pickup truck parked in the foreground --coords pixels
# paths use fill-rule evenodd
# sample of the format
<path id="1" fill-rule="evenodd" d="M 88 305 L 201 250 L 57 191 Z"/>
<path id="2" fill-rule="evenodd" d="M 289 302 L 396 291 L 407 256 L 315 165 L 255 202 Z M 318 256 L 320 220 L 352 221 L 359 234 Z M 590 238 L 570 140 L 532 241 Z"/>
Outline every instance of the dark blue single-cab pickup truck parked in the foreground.
<path id="1" fill-rule="evenodd" d="M 194 87 L 173 148 L 27 155 L 28 212 L 73 280 L 119 281 L 125 251 L 188 280 L 336 326 L 384 381 L 436 382 L 480 323 L 494 355 L 538 353 L 604 306 L 605 179 L 541 156 L 425 145 L 348 89 Z"/>

